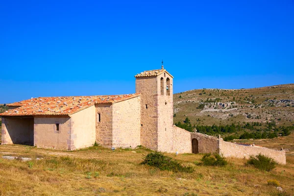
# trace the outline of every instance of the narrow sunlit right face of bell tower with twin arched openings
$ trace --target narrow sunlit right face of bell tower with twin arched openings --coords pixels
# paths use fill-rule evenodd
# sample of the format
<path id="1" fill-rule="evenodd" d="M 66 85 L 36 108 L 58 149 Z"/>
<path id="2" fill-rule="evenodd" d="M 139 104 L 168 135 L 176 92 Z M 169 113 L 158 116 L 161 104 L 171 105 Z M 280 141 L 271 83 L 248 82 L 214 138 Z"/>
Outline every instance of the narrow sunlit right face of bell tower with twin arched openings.
<path id="1" fill-rule="evenodd" d="M 163 78 L 163 86 L 161 85 Z M 170 95 L 167 94 L 167 78 L 170 79 L 168 86 Z M 163 88 L 163 89 L 162 89 Z M 163 90 L 163 95 L 161 91 Z M 172 76 L 161 73 L 157 76 L 157 118 L 158 118 L 158 150 L 173 152 L 173 100 L 172 100 Z"/>

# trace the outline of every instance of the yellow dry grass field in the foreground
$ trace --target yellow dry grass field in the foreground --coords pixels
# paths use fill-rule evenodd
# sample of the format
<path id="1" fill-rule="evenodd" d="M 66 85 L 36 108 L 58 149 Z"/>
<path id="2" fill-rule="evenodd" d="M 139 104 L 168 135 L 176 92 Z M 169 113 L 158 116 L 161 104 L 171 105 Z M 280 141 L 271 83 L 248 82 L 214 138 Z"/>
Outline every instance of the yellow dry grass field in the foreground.
<path id="1" fill-rule="evenodd" d="M 150 150 L 90 147 L 76 151 L 28 146 L 0 146 L 0 156 L 42 157 L 21 162 L 0 158 L 0 196 L 268 196 L 276 194 L 267 180 L 275 179 L 294 193 L 294 162 L 271 172 L 246 167 L 244 159 L 229 158 L 223 168 L 196 166 L 201 154 L 167 154 L 193 173 L 159 171 L 140 165 Z"/>

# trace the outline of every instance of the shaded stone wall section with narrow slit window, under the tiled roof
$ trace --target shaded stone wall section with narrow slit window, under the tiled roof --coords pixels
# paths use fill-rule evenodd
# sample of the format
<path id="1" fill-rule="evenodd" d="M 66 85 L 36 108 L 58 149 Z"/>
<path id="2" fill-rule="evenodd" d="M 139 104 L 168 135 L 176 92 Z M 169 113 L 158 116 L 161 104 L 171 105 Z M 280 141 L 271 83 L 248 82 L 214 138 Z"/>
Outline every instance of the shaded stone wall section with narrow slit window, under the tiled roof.
<path id="1" fill-rule="evenodd" d="M 96 141 L 104 147 L 112 147 L 112 107 L 110 103 L 96 105 Z"/>

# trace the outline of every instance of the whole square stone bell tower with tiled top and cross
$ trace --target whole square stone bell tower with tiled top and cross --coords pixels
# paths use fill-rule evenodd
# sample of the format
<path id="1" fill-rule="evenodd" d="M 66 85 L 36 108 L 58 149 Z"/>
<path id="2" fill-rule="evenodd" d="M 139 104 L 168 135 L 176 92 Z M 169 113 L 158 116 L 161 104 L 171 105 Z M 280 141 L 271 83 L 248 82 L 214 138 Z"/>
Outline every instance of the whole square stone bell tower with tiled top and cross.
<path id="1" fill-rule="evenodd" d="M 135 75 L 136 93 L 141 93 L 141 145 L 172 152 L 172 75 L 161 70 Z"/>

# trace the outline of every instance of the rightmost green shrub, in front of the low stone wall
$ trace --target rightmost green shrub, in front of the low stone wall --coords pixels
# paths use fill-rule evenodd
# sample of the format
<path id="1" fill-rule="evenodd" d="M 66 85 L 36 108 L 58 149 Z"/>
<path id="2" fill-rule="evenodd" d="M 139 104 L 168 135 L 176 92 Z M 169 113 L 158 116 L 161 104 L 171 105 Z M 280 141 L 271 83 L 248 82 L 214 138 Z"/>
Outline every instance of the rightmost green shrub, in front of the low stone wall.
<path id="1" fill-rule="evenodd" d="M 262 154 L 258 154 L 256 156 L 250 156 L 246 165 L 253 165 L 255 168 L 259 170 L 264 170 L 269 172 L 276 167 L 277 162 L 275 162 L 270 157 L 267 157 Z"/>

